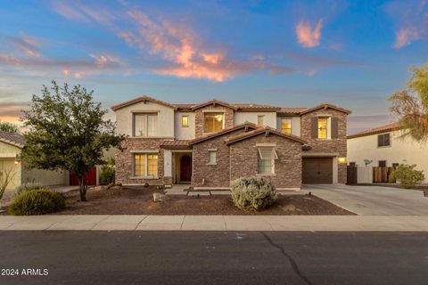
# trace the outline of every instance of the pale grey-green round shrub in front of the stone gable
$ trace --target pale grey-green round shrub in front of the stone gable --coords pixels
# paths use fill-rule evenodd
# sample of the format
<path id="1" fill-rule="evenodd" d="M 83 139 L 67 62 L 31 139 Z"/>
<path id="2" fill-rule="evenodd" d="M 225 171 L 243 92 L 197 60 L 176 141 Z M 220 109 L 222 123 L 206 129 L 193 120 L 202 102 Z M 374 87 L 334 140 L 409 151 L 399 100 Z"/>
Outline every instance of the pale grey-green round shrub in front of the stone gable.
<path id="1" fill-rule="evenodd" d="M 237 208 L 258 211 L 276 200 L 274 185 L 266 178 L 239 178 L 232 183 L 232 199 Z"/>

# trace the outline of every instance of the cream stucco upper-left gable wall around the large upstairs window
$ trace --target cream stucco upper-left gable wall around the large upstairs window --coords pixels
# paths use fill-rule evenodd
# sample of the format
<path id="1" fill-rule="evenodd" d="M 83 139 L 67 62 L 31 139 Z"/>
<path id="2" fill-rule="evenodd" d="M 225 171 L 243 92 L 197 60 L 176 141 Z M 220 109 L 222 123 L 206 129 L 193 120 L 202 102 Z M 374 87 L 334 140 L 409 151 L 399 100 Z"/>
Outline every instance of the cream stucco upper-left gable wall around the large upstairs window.
<path id="1" fill-rule="evenodd" d="M 174 137 L 174 109 L 153 102 L 138 102 L 116 110 L 118 134 L 128 134 L 132 136 L 133 112 L 157 112 L 158 134 L 156 137 Z"/>

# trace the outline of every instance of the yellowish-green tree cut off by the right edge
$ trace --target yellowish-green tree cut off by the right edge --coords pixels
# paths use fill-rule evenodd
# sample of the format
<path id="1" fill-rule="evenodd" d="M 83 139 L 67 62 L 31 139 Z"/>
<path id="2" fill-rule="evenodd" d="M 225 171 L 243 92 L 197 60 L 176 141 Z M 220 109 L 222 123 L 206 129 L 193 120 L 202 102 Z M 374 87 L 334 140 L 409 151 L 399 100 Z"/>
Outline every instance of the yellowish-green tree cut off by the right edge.
<path id="1" fill-rule="evenodd" d="M 412 68 L 407 87 L 389 98 L 390 110 L 399 118 L 399 125 L 416 141 L 428 139 L 428 64 Z"/>

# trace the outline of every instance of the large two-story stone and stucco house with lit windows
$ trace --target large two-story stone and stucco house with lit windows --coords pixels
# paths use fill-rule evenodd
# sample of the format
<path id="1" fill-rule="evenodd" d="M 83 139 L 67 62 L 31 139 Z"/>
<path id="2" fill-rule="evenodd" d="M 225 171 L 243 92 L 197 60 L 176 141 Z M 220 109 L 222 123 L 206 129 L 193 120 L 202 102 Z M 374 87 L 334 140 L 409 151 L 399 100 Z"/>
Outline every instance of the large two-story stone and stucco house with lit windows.
<path id="1" fill-rule="evenodd" d="M 243 176 L 276 188 L 346 183 L 350 110 L 323 103 L 281 108 L 218 100 L 175 104 L 143 96 L 111 108 L 128 134 L 116 151 L 116 181 L 227 188 Z"/>

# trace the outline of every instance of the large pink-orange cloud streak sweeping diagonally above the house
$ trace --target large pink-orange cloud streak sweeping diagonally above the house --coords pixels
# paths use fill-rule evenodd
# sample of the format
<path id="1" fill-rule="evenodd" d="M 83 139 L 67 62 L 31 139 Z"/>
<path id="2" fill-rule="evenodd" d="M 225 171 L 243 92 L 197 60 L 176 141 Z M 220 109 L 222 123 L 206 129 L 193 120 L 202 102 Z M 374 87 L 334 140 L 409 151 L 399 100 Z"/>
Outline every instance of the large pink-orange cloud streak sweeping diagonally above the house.
<path id="1" fill-rule="evenodd" d="M 156 74 L 223 82 L 255 70 L 266 70 L 269 74 L 295 71 L 251 58 L 231 59 L 225 49 L 208 49 L 208 45 L 189 25 L 164 18 L 153 19 L 136 8 L 124 7 L 123 11 L 116 11 L 115 16 L 105 9 L 93 9 L 81 3 L 55 4 L 54 9 L 71 20 L 93 20 L 109 28 L 128 45 L 138 48 L 140 53 L 160 56 L 162 62 L 148 67 Z M 123 22 L 128 24 L 127 28 L 123 28 Z M 106 57 L 96 62 L 103 64 L 103 61 L 118 63 Z"/>

